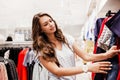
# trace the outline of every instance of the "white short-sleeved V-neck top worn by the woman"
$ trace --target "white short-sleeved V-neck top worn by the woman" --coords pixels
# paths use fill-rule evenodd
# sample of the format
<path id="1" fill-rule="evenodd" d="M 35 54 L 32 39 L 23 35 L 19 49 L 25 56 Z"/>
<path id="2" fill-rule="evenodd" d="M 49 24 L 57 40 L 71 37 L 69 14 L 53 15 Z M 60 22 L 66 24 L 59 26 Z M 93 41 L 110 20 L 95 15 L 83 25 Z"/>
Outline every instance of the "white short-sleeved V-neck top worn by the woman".
<path id="1" fill-rule="evenodd" d="M 68 44 L 72 49 L 74 38 L 67 34 L 65 34 L 65 38 L 68 40 Z M 62 44 L 61 50 L 55 49 L 57 59 L 60 63 L 60 67 L 69 68 L 75 66 L 75 55 L 71 49 L 64 43 Z M 75 80 L 75 75 L 62 76 L 58 78 L 51 72 L 48 72 L 48 80 Z"/>

